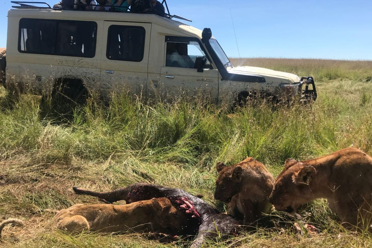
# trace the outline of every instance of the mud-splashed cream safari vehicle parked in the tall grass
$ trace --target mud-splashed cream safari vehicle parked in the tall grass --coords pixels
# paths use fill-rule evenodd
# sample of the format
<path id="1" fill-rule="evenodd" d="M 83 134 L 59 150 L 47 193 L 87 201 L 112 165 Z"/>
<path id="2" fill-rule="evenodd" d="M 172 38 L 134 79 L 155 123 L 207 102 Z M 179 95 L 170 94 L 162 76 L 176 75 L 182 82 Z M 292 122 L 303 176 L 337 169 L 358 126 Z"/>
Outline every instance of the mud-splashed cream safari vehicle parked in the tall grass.
<path id="1" fill-rule="evenodd" d="M 234 67 L 210 29 L 176 21 L 186 19 L 171 16 L 168 5 L 162 17 L 13 3 L 19 6 L 8 12 L 1 70 L 3 84 L 20 92 L 53 97 L 62 85 L 68 89 L 63 94 L 76 100 L 92 90 L 102 96 L 124 90 L 162 97 L 201 94 L 224 105 L 243 104 L 257 93 L 304 102 L 317 97 L 311 77 Z"/>

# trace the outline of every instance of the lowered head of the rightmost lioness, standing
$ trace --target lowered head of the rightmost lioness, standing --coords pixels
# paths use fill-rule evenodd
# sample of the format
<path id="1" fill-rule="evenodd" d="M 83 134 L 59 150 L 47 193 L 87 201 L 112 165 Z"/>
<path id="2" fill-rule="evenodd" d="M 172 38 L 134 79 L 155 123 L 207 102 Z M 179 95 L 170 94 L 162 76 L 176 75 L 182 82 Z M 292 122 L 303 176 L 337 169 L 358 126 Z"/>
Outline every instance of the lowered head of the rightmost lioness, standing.
<path id="1" fill-rule="evenodd" d="M 306 166 L 293 158 L 287 159 L 285 168 L 277 177 L 269 201 L 277 210 L 295 215 L 299 205 L 314 199 L 310 182 L 315 175 L 314 167 Z"/>

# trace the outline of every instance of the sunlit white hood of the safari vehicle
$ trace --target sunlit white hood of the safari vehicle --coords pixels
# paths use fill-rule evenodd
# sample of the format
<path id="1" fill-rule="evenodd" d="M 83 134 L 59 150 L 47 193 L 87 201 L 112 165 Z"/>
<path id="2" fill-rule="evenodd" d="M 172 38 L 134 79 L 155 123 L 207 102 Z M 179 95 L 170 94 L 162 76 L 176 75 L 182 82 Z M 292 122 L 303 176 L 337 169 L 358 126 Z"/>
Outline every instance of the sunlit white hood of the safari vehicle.
<path id="1" fill-rule="evenodd" d="M 263 77 L 270 77 L 270 78 L 281 78 L 281 79 L 288 79 L 289 81 L 299 82 L 300 78 L 297 75 L 287 73 L 287 72 L 279 72 L 274 71 L 266 68 L 261 67 L 254 67 L 254 66 L 240 66 L 234 67 L 228 70 L 229 73 L 232 74 L 256 74 Z"/>

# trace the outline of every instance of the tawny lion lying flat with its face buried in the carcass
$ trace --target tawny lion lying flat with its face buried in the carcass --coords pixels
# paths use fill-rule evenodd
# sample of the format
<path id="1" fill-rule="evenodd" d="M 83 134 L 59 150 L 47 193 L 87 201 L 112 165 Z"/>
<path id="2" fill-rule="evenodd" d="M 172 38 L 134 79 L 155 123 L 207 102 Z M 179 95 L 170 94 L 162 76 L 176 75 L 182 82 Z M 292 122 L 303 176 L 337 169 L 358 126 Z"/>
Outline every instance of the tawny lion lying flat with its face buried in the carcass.
<path id="1" fill-rule="evenodd" d="M 53 219 L 57 228 L 69 233 L 95 231 L 177 233 L 186 216 L 168 198 L 153 198 L 125 205 L 76 204 L 62 209 Z"/>

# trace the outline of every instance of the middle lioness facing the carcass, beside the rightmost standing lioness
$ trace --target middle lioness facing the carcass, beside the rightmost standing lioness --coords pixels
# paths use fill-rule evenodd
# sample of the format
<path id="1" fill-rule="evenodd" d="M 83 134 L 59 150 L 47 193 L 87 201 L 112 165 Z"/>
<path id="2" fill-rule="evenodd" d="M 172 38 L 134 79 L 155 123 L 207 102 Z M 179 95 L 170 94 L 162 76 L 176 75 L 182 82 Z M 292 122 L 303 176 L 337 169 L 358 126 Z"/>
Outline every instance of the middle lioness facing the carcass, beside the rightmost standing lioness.
<path id="1" fill-rule="evenodd" d="M 227 203 L 227 214 L 253 222 L 270 213 L 274 178 L 262 163 L 248 157 L 232 166 L 218 162 L 216 169 L 215 199 Z"/>

